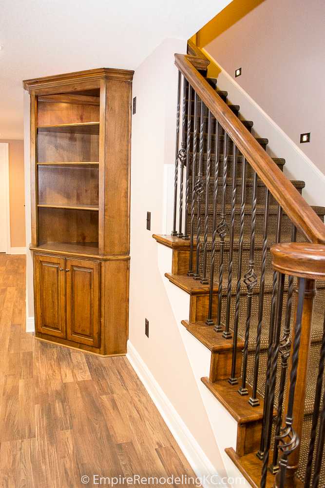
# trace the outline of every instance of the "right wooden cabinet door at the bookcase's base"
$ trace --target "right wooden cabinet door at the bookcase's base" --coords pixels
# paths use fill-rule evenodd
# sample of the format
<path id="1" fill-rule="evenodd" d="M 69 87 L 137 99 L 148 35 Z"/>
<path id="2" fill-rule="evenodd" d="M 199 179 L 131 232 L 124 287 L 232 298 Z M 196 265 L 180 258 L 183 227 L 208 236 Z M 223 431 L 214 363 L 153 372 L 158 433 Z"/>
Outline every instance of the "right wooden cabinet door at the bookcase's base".
<path id="1" fill-rule="evenodd" d="M 100 264 L 66 260 L 67 339 L 99 347 Z"/>

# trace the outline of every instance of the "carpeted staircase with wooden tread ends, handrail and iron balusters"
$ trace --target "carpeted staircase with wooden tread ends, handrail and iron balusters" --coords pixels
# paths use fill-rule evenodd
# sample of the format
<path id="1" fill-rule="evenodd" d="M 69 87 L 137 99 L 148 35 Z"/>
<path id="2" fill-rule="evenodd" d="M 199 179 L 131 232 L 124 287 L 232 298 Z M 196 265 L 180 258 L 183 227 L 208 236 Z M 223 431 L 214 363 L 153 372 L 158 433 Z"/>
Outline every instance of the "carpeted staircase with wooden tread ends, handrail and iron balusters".
<path id="1" fill-rule="evenodd" d="M 300 441 L 286 451 L 281 427 L 294 408 L 289 385 L 293 388 L 295 317 L 299 297 L 304 304 L 313 297 L 306 284 L 304 296 L 295 292 L 308 280 L 274 269 L 278 258 L 270 250 L 283 243 L 298 243 L 299 249 L 307 242 L 324 244 L 325 207 L 306 204 L 305 182 L 287 181 L 285 160 L 267 156 L 268 139 L 251 136 L 253 121 L 242 120 L 240 107 L 227 104 L 228 93 L 207 77 L 209 61 L 191 44 L 188 52 L 175 55 L 174 227 L 172 235 L 153 238 L 172 248 L 166 278 L 190 295 L 189 319 L 182 324 L 211 352 L 210 374 L 202 382 L 237 421 L 236 450 L 227 449 L 232 461 L 253 487 L 324 487 L 317 437 L 324 409 L 323 403 L 317 409 L 316 401 L 321 404 L 323 385 L 325 276 L 317 276 L 307 375 L 295 393 L 298 399 L 298 389 L 303 392 L 303 413 L 293 429 Z M 302 363 L 303 352 L 300 356 Z M 298 379 L 299 374 L 298 368 Z"/>

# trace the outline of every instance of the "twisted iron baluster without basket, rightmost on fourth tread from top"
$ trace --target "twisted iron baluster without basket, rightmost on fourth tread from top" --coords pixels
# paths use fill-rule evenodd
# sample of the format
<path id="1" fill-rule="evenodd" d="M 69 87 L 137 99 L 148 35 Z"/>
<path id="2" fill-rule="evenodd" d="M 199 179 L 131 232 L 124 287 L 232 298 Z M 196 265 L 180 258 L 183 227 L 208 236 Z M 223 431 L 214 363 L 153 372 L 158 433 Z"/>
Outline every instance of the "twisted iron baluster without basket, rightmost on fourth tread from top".
<path id="1" fill-rule="evenodd" d="M 255 361 L 254 361 L 254 377 L 253 377 L 252 395 L 249 398 L 249 405 L 251 405 L 252 407 L 257 407 L 258 405 L 260 405 L 260 401 L 257 398 L 257 382 L 258 382 L 258 368 L 260 365 L 262 322 L 263 322 L 263 310 L 264 310 L 265 271 L 266 271 L 267 251 L 268 251 L 268 209 L 269 209 L 269 191 L 268 188 L 266 188 L 261 278 L 260 278 L 260 296 L 259 296 L 259 303 L 258 303 L 258 324 L 257 324 L 257 331 L 256 331 L 256 348 L 255 348 Z"/>

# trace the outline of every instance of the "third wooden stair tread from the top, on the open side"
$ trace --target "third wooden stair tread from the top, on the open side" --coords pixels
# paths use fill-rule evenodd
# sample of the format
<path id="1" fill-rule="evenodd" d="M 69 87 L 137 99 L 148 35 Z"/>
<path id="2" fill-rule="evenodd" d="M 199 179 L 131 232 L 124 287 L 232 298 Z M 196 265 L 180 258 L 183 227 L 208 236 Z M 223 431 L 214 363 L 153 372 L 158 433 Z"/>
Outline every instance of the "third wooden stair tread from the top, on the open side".
<path id="1" fill-rule="evenodd" d="M 224 339 L 222 334 L 215 332 L 213 326 L 206 325 L 204 322 L 195 322 L 195 324 L 189 322 L 188 320 L 182 320 L 182 325 L 191 332 L 191 334 L 196 337 L 204 346 L 206 346 L 210 351 L 220 352 L 232 350 L 232 341 L 229 339 Z M 238 341 L 238 348 L 242 348 L 244 342 Z"/>

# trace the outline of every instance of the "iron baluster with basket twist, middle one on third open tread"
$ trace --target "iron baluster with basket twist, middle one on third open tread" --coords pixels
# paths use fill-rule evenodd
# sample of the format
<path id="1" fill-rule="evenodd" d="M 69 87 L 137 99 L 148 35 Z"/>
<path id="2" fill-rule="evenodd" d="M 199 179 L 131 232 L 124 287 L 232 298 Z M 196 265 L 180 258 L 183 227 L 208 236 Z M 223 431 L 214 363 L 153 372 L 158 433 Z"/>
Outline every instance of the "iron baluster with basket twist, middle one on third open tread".
<path id="1" fill-rule="evenodd" d="M 219 262 L 219 284 L 218 284 L 218 313 L 217 313 L 217 323 L 214 326 L 216 332 L 222 331 L 221 324 L 221 301 L 222 301 L 222 281 L 224 276 L 224 247 L 225 247 L 225 237 L 229 229 L 226 222 L 226 188 L 227 188 L 227 142 L 228 134 L 226 130 L 224 131 L 224 163 L 223 163 L 223 176 L 222 176 L 222 203 L 221 203 L 221 221 L 217 226 L 217 232 L 220 237 L 220 262 Z"/>

